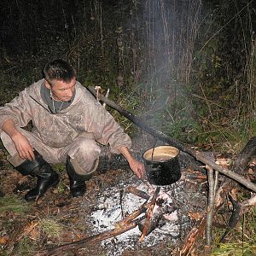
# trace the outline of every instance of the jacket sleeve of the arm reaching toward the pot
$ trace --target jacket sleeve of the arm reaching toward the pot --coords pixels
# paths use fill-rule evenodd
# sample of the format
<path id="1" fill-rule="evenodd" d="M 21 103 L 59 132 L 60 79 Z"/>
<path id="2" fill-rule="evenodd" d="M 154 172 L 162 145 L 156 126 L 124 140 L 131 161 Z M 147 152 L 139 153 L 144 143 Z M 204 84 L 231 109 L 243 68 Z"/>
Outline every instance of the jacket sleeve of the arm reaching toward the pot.
<path id="1" fill-rule="evenodd" d="M 109 144 L 109 150 L 114 154 L 120 154 L 118 148 L 121 146 L 131 148 L 131 138 L 100 103 L 94 102 L 87 110 L 89 111 L 86 119 L 91 121 L 85 121 L 85 129 L 94 133 L 97 142 Z"/>

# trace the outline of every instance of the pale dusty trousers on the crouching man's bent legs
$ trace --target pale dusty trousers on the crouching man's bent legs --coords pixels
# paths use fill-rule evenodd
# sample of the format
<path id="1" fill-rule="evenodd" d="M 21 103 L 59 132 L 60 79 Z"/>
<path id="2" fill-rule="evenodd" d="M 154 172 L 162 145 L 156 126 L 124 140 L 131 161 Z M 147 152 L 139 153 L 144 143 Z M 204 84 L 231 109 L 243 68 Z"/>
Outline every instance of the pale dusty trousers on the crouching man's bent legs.
<path id="1" fill-rule="evenodd" d="M 35 148 L 47 162 L 51 164 L 65 164 L 67 155 L 69 155 L 73 168 L 79 175 L 87 175 L 96 171 L 101 148 L 97 145 L 94 139 L 83 137 L 83 135 L 81 135 L 65 147 L 51 148 L 44 144 L 36 134 L 21 128 L 19 131 L 28 139 L 32 148 Z M 9 162 L 13 166 L 20 166 L 24 160 L 21 159 L 17 153 L 15 143 L 13 143 L 12 139 L 4 131 L 1 132 L 1 139 L 3 146 L 9 152 Z"/>

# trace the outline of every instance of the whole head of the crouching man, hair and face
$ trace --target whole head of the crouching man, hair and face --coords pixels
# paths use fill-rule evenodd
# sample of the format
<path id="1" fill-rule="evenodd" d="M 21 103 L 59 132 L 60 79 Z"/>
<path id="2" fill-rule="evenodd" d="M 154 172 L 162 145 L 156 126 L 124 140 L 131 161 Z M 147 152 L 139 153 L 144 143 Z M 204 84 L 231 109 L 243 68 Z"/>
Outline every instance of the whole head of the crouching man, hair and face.
<path id="1" fill-rule="evenodd" d="M 68 102 L 73 96 L 76 73 L 66 61 L 50 61 L 43 69 L 44 85 L 56 101 Z"/>

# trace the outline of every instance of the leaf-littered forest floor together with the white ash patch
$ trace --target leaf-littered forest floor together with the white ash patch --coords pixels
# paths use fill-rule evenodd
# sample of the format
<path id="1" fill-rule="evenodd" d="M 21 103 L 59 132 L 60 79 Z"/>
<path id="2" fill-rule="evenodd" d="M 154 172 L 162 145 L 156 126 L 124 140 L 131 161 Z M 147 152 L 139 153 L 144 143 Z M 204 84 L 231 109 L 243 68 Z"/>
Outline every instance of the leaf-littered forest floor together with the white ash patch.
<path id="1" fill-rule="evenodd" d="M 36 202 L 23 197 L 36 182 L 33 177 L 22 177 L 6 160 L 7 152 L 0 151 L 0 254 L 40 255 L 52 247 L 81 241 L 112 230 L 127 214 L 141 208 L 145 200 L 129 194 L 133 186 L 152 195 L 145 183 L 132 175 L 129 168 L 96 172 L 87 184 L 83 197 L 69 194 L 65 166 L 53 166 L 61 182 Z M 228 165 L 231 156 L 213 155 L 220 164 Z M 186 237 L 207 207 L 207 176 L 198 162 L 180 154 L 182 177 L 177 183 L 162 186 L 160 194 L 169 195 L 168 218 L 159 224 L 143 241 L 138 226 L 119 236 L 99 242 L 84 243 L 79 249 L 61 250 L 56 255 L 177 255 L 186 244 Z M 190 165 L 191 164 L 191 165 Z M 220 177 L 220 180 L 222 176 Z M 155 189 L 156 186 L 153 186 Z M 150 194 L 151 193 L 151 194 Z M 225 206 L 219 214 L 218 225 L 226 226 L 231 211 Z M 215 220 L 216 222 L 216 220 Z M 205 241 L 195 247 L 191 255 L 207 255 Z M 48 255 L 48 254 L 45 254 Z M 234 254 L 235 255 L 235 254 Z"/>

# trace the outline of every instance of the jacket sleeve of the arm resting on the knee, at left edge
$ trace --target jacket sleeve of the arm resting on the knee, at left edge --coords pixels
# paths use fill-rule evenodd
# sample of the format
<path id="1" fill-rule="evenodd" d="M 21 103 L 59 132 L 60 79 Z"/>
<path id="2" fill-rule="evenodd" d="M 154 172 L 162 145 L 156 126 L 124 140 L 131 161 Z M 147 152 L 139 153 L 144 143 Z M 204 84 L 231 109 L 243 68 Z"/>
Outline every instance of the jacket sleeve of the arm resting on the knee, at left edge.
<path id="1" fill-rule="evenodd" d="M 24 127 L 31 120 L 30 98 L 27 90 L 20 92 L 11 102 L 0 107 L 0 131 L 5 120 L 12 119 L 17 127 Z"/>

